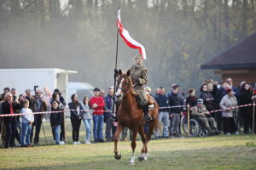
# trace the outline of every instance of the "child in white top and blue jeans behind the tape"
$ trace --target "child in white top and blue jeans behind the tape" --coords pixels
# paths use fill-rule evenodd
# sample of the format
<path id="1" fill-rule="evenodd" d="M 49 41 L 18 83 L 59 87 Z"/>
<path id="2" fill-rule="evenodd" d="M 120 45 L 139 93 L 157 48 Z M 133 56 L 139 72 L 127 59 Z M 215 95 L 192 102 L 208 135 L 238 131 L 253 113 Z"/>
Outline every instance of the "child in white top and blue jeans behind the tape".
<path id="1" fill-rule="evenodd" d="M 25 113 L 26 115 L 22 117 L 22 135 L 21 135 L 21 147 L 31 147 L 30 135 L 32 130 L 32 123 L 34 122 L 34 115 L 32 110 L 28 108 L 29 101 L 27 99 L 23 100 L 23 108 L 20 113 Z"/>

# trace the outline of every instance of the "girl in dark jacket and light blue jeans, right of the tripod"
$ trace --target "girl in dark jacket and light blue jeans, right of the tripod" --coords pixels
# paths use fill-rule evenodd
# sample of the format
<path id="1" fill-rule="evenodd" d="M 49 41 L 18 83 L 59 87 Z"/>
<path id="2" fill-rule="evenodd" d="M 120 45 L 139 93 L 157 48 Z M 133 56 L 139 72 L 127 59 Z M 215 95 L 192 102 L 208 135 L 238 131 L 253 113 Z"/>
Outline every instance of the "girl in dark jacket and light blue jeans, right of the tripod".
<path id="1" fill-rule="evenodd" d="M 61 111 L 59 103 L 54 101 L 52 103 L 51 111 Z M 60 141 L 60 129 L 61 129 L 61 122 L 62 122 L 62 112 L 56 112 L 50 114 L 50 124 L 55 131 L 55 140 L 56 144 L 64 144 Z"/>

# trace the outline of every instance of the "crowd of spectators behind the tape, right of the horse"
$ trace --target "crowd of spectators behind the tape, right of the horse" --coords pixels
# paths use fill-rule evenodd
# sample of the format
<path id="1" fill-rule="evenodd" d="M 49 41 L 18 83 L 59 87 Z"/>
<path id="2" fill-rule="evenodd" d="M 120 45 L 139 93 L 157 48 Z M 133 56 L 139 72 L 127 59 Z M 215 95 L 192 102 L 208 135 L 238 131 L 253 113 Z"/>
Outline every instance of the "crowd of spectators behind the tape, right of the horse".
<path id="1" fill-rule="evenodd" d="M 178 84 L 172 84 L 168 94 L 165 94 L 165 88 L 156 88 L 154 99 L 163 108 L 158 117 L 163 128 L 162 135 L 155 133 L 155 139 L 183 138 L 180 133 L 180 118 L 188 111 L 186 108 L 175 107 L 177 105 L 189 105 L 190 116 L 206 128 L 209 134 L 239 134 L 242 128 L 246 134 L 253 133 L 253 105 L 241 108 L 236 106 L 253 104 L 256 99 L 255 89 L 254 83 L 247 82 L 241 82 L 240 87 L 236 88 L 231 78 L 220 83 L 213 80 L 202 82 L 200 93 L 196 95 L 196 90 L 190 88 L 187 98 L 186 92 Z"/>

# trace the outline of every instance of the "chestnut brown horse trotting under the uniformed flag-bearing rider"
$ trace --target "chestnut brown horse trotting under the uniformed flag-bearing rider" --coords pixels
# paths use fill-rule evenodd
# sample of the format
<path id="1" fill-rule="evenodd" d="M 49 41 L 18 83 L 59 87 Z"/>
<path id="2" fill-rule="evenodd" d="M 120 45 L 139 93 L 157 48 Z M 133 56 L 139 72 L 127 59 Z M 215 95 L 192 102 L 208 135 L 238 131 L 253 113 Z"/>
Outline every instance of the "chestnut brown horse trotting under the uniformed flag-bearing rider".
<path id="1" fill-rule="evenodd" d="M 143 109 L 139 108 L 136 99 L 136 93 L 133 91 L 133 84 L 131 82 L 130 71 L 127 73 L 122 73 L 119 70 L 118 73 L 118 80 L 117 80 L 117 87 L 116 94 L 120 94 L 122 92 L 123 96 L 121 99 L 121 103 L 118 109 L 118 127 L 116 132 L 113 136 L 114 141 L 114 158 L 119 160 L 121 159 L 121 154 L 118 150 L 118 141 L 119 135 L 122 133 L 124 127 L 128 127 L 131 129 L 132 132 L 132 140 L 131 140 L 131 165 L 135 164 L 135 148 L 136 148 L 136 139 L 137 133 L 140 134 L 141 139 L 143 141 L 143 148 L 141 150 L 141 155 L 138 157 L 139 161 L 148 160 L 148 147 L 147 144 L 151 139 L 151 135 L 154 129 L 159 127 L 158 121 L 158 110 L 159 106 L 154 100 L 154 109 L 149 111 L 149 114 L 152 116 L 153 120 L 148 122 L 148 133 L 144 133 L 144 124 L 146 123 L 145 119 L 143 118 Z"/>

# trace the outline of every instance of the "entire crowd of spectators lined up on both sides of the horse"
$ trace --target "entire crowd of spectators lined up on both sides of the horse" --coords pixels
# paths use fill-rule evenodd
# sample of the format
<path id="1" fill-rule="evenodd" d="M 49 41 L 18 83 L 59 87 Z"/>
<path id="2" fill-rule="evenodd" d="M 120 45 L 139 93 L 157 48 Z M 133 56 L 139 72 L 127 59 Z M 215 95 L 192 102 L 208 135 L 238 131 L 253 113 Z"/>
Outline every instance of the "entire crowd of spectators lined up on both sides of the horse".
<path id="1" fill-rule="evenodd" d="M 145 90 L 148 94 L 151 92 L 149 87 Z M 44 93 L 41 89 L 37 89 L 35 95 L 31 93 L 31 90 L 27 89 L 25 94 L 17 96 L 15 88 L 3 89 L 0 113 L 24 113 L 22 116 L 0 117 L 0 132 L 5 148 L 17 145 L 32 147 L 32 144 L 39 144 L 39 134 L 44 116 L 49 118 L 55 144 L 66 144 L 64 137 L 65 117 L 63 115 L 65 109 L 70 111 L 73 144 L 81 144 L 79 132 L 82 121 L 85 127 L 85 138 L 82 143 L 113 141 L 113 134 L 117 126 L 117 122 L 111 119 L 113 87 L 108 88 L 107 95 L 103 89 L 95 88 L 93 90 L 94 96 L 91 98 L 84 96 L 82 102 L 79 102 L 77 94 L 73 94 L 71 96 L 72 101 L 68 105 L 61 96 L 59 89 L 55 89 L 53 94 L 47 88 L 44 88 Z M 222 132 L 227 135 L 239 134 L 241 128 L 243 128 L 244 133 L 253 133 L 253 105 L 240 109 L 237 109 L 236 106 L 252 104 L 253 100 L 256 99 L 255 94 L 255 84 L 241 82 L 240 87 L 236 88 L 233 86 L 231 78 L 220 83 L 213 80 L 205 81 L 201 84 L 200 94 L 196 95 L 196 90 L 191 88 L 187 98 L 185 98 L 186 92 L 183 92 L 178 84 L 172 84 L 171 91 L 167 94 L 164 87 L 156 88 L 155 94 L 150 95 L 160 106 L 158 120 L 163 123 L 163 126 L 154 132 L 154 139 L 183 138 L 180 130 L 181 116 L 188 112 L 184 105 L 190 106 L 190 115 L 196 117 L 201 126 L 210 132 L 209 134 Z M 235 109 L 230 109 L 234 106 Z M 224 111 L 217 111 L 219 109 L 224 109 Z M 30 114 L 44 111 L 55 111 L 55 113 Z M 105 133 L 103 133 L 104 122 L 106 123 Z M 122 135 L 125 136 L 126 132 L 127 129 L 124 129 Z M 145 132 L 147 132 L 147 124 L 145 125 Z M 91 133 L 93 133 L 93 140 L 90 137 Z M 16 144 L 15 139 L 17 140 Z"/>

